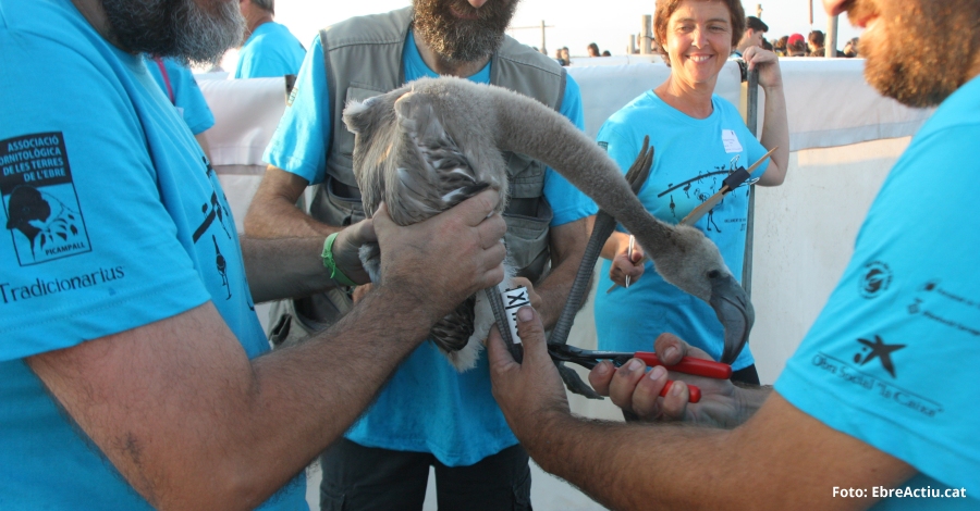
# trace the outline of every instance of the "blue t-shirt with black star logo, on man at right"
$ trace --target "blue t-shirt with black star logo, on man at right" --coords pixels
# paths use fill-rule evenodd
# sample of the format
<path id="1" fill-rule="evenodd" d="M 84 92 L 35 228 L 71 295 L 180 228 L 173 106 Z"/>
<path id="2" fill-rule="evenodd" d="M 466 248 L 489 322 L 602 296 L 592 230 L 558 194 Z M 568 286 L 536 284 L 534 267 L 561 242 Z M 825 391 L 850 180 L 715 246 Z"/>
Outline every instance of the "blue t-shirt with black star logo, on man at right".
<path id="1" fill-rule="evenodd" d="M 919 470 L 899 487 L 970 497 L 892 498 L 887 509 L 980 508 L 977 140 L 973 78 L 895 163 L 844 276 L 775 384 L 814 419 Z"/>

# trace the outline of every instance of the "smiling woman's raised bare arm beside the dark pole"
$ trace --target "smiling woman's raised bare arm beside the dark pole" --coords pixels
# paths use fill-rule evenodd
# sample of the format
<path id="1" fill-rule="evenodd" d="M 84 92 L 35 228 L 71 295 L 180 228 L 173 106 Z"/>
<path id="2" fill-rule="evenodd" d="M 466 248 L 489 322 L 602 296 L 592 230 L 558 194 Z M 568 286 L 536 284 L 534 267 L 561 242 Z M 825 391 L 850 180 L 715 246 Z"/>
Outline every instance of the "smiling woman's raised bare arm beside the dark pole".
<path id="1" fill-rule="evenodd" d="M 777 147 L 772 153 L 765 173 L 758 185 L 779 186 L 786 178 L 789 166 L 789 121 L 786 116 L 786 97 L 783 94 L 783 75 L 780 59 L 775 53 L 759 47 L 750 47 L 743 54 L 749 71 L 759 70 L 759 85 L 765 92 L 762 137 L 760 141 L 767 150 Z"/>

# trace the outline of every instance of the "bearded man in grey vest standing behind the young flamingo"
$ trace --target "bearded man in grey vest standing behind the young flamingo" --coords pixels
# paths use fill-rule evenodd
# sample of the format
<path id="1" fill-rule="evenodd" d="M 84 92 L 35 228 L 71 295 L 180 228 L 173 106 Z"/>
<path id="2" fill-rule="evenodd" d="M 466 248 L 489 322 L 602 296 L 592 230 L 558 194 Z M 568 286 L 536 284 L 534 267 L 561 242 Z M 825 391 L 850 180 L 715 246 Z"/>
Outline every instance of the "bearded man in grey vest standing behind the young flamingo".
<path id="1" fill-rule="evenodd" d="M 323 236 L 363 219 L 352 170 L 354 135 L 341 113 L 347 101 L 416 78 L 451 75 L 503 86 L 581 128 L 575 82 L 553 60 L 504 35 L 516 8 L 517 0 L 415 0 L 411 8 L 322 30 L 266 151 L 270 166 L 245 217 L 245 233 L 272 239 Z M 550 326 L 567 298 L 596 207 L 542 164 L 514 153 L 506 161 L 510 258 Z M 295 204 L 310 185 L 318 186 L 307 214 Z M 433 259 L 428 273 L 444 273 L 444 261 Z M 352 301 L 369 297 L 367 288 L 282 303 L 272 317 L 273 342 L 291 344 L 330 325 Z M 448 317 L 438 326 L 464 332 L 465 340 L 469 332 L 463 325 L 465 320 Z M 527 453 L 490 395 L 486 357 L 460 373 L 432 342 L 408 357 L 320 461 L 324 510 L 421 509 L 429 466 L 436 470 L 440 509 L 530 508 Z"/>

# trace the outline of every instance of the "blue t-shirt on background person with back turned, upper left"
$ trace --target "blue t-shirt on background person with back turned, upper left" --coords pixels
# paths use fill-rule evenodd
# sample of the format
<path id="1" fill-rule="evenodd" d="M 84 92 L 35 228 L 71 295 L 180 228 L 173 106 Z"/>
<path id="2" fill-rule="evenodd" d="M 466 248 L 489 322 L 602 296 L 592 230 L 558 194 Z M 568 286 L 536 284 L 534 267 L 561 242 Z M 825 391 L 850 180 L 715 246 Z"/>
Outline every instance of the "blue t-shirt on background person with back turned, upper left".
<path id="1" fill-rule="evenodd" d="M 238 52 L 235 78 L 277 78 L 299 72 L 306 50 L 285 25 L 275 22 L 255 27 Z"/>

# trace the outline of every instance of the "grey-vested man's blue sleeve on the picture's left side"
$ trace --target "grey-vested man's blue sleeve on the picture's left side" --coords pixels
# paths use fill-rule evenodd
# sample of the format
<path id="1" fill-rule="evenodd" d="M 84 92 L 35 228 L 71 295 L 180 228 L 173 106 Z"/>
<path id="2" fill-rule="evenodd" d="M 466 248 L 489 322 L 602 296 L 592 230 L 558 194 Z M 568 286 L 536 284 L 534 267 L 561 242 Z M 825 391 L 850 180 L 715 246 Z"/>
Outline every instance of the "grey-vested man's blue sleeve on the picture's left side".
<path id="1" fill-rule="evenodd" d="M 331 136 L 330 96 L 323 49 L 314 39 L 279 127 L 264 159 L 271 165 L 296 174 L 310 184 L 321 183 L 327 169 L 327 141 Z"/>

